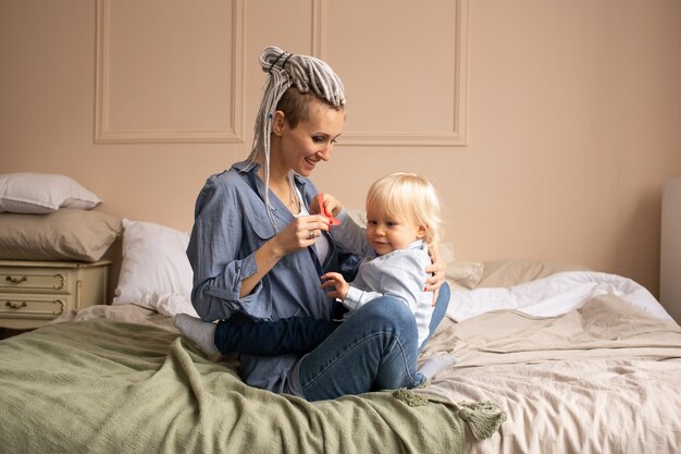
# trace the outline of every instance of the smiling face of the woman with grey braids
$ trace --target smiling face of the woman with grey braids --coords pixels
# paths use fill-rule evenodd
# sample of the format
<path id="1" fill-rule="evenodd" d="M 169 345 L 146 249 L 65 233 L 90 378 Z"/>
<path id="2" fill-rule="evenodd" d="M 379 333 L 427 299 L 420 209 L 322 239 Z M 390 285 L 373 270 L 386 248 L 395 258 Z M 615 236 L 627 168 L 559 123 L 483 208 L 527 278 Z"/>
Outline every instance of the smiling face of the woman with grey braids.
<path id="1" fill-rule="evenodd" d="M 310 176 L 318 162 L 331 159 L 331 150 L 344 124 L 345 110 L 335 110 L 322 103 L 314 106 L 310 110 L 310 119 L 298 122 L 296 127 L 284 123 L 276 134 L 281 138 L 278 157 L 272 156 L 272 159 L 280 161 L 282 170 Z"/>

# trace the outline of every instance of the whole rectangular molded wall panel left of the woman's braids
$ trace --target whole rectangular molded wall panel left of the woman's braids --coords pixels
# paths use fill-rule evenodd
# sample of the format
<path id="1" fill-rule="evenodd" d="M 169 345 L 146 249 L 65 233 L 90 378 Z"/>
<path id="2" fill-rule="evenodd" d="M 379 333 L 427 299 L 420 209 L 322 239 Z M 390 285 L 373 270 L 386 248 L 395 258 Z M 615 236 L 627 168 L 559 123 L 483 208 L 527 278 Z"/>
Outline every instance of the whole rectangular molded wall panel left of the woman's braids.
<path id="1" fill-rule="evenodd" d="M 244 142 L 244 0 L 201 5 L 97 0 L 96 143 Z"/>

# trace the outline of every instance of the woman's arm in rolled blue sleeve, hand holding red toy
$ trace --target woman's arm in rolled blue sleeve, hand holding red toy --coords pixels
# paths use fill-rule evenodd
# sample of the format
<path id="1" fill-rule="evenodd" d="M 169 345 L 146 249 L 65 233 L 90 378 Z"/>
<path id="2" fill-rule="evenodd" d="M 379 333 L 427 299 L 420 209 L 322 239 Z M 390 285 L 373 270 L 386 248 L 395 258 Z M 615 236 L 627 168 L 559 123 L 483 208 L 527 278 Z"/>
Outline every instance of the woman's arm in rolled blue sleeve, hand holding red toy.
<path id="1" fill-rule="evenodd" d="M 271 306 L 260 298 L 263 277 L 327 229 L 325 219 L 312 216 L 294 219 L 276 233 L 262 199 L 243 174 L 211 176 L 197 198 L 187 248 L 197 312 L 207 321 L 228 318 L 236 310 L 270 317 Z"/>

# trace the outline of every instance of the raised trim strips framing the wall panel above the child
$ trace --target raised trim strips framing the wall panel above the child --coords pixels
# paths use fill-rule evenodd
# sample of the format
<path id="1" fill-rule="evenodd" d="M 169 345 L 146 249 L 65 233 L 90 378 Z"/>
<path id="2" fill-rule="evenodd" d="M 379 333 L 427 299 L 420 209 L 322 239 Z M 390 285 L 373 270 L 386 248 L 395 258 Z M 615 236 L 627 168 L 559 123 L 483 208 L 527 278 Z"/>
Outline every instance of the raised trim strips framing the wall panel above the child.
<path id="1" fill-rule="evenodd" d="M 327 0 L 313 0 L 312 14 L 312 50 L 314 56 L 324 60 L 326 53 L 326 3 Z M 454 0 L 456 2 L 455 54 L 454 77 L 454 122 L 451 130 L 422 133 L 422 132 L 352 132 L 347 128 L 338 145 L 349 146 L 421 146 L 421 147 L 453 147 L 466 146 L 467 115 L 468 115 L 468 2 L 469 0 Z"/>

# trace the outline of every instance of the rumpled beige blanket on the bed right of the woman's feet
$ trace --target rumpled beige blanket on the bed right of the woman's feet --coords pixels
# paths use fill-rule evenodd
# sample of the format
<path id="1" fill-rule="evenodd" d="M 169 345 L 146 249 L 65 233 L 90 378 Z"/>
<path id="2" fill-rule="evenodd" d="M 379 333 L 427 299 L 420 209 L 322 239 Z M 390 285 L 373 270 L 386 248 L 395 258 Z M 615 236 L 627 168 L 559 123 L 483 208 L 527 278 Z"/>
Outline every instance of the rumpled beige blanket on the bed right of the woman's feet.
<path id="1" fill-rule="evenodd" d="M 457 365 L 420 393 L 508 412 L 469 453 L 681 452 L 681 328 L 612 295 L 559 317 L 445 319 L 422 360 L 442 354 Z"/>

